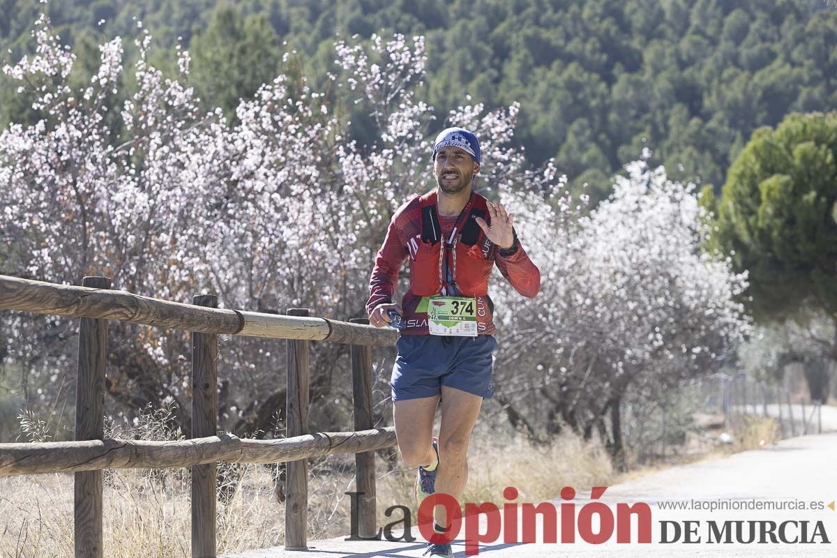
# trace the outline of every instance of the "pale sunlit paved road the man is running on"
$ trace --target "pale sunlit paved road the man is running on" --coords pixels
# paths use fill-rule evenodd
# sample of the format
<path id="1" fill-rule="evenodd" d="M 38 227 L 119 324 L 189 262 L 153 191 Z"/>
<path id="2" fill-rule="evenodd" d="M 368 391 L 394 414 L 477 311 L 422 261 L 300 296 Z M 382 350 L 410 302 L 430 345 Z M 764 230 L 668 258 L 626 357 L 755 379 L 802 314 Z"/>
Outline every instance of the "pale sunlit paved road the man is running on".
<path id="1" fill-rule="evenodd" d="M 583 496 L 587 494 L 580 494 Z M 691 463 L 666 469 L 643 478 L 608 488 L 601 501 L 613 508 L 619 502 L 650 504 L 652 513 L 652 543 L 617 544 L 609 540 L 603 545 L 544 544 L 504 545 L 494 543 L 480 546 L 480 555 L 489 558 L 529 558 L 542 556 L 603 558 L 623 556 L 647 558 L 648 556 L 777 556 L 794 558 L 809 556 L 837 556 L 837 511 L 824 509 L 772 509 L 772 510 L 671 510 L 660 504 L 680 502 L 690 505 L 692 500 L 721 501 L 727 505 L 749 505 L 748 503 L 778 503 L 788 507 L 798 506 L 804 501 L 806 507 L 812 501 L 828 504 L 837 499 L 837 433 L 819 436 L 790 438 L 761 450 L 737 453 L 726 458 L 716 458 L 701 463 Z M 577 498 L 577 509 L 586 500 Z M 743 504 L 742 504 L 743 503 Z M 792 504 L 793 503 L 793 504 Z M 556 503 L 557 504 L 557 503 Z M 662 521 L 676 521 L 682 525 L 685 520 L 699 521 L 696 525 L 701 543 L 660 544 Z M 709 520 L 743 520 L 748 528 L 749 520 L 774 521 L 777 524 L 787 520 L 809 521 L 809 537 L 814 525 L 821 521 L 829 544 L 707 544 Z M 560 516 L 558 519 L 560 525 Z M 669 524 L 670 525 L 670 524 Z M 732 524 L 734 525 L 734 524 Z M 754 524 L 757 525 L 757 524 Z M 764 524 L 767 525 L 767 524 Z M 597 528 L 594 527 L 593 531 Z M 786 537 L 792 539 L 800 532 L 799 524 L 788 524 Z M 670 533 L 670 528 L 669 528 Z M 745 529 L 747 536 L 747 529 Z M 418 535 L 418 534 L 417 534 Z M 634 533 L 635 540 L 635 533 Z M 615 536 L 613 537 L 615 539 Z M 539 535 L 540 540 L 540 535 Z M 577 540 L 580 540 L 577 536 Z M 682 540 L 682 538 L 681 538 Z M 769 535 L 768 535 L 769 540 Z M 822 540 L 817 537 L 815 540 Z M 235 555 L 236 558 L 275 558 L 278 556 L 300 556 L 321 558 L 389 558 L 418 557 L 424 551 L 419 541 L 412 544 L 388 541 L 347 542 L 342 539 L 317 540 L 311 542 L 311 549 L 304 552 L 285 552 L 281 548 L 254 550 Z M 456 556 L 465 556 L 462 541 L 454 544 Z M 232 558 L 232 556 L 230 556 Z"/>

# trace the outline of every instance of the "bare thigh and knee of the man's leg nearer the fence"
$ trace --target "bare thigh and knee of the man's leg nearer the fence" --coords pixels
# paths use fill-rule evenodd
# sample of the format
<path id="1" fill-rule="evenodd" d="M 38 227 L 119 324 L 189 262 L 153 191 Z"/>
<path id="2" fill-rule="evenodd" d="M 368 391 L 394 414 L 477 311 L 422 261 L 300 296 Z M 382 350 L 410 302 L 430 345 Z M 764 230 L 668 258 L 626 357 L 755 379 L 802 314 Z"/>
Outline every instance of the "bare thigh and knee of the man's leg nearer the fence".
<path id="1" fill-rule="evenodd" d="M 442 388 L 444 390 L 444 387 Z M 430 465 L 433 452 L 433 422 L 439 396 L 396 400 L 393 404 L 395 437 L 401 458 L 409 467 Z"/>

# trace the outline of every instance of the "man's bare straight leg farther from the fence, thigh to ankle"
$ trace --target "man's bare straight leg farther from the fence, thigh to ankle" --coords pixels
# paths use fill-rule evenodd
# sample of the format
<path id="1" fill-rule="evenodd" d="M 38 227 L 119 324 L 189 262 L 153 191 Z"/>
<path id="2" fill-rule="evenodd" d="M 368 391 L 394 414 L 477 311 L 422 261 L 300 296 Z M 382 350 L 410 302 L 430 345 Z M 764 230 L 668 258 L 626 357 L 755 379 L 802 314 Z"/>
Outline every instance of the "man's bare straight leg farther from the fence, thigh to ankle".
<path id="1" fill-rule="evenodd" d="M 468 480 L 468 443 L 477 417 L 480 416 L 482 397 L 454 387 L 442 387 L 442 425 L 439 430 L 439 471 L 436 474 L 436 493 L 450 494 L 457 501 L 462 498 Z M 436 506 L 436 523 L 449 527 L 443 506 Z"/>

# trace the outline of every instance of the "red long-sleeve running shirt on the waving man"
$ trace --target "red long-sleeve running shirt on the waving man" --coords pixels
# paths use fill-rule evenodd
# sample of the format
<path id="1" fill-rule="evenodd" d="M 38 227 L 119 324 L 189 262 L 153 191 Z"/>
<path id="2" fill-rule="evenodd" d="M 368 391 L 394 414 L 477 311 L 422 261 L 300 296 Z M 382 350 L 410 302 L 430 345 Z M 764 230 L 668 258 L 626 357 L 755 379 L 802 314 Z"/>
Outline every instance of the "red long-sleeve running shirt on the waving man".
<path id="1" fill-rule="evenodd" d="M 437 212 L 438 215 L 438 212 Z M 489 219 L 485 219 L 490 221 Z M 439 216 L 439 225 L 444 238 L 454 228 L 455 217 Z M 517 249 L 511 255 L 503 256 L 494 243 L 485 238 L 480 230 L 477 242 L 470 247 L 465 257 L 479 261 L 471 265 L 471 269 L 480 269 L 478 276 L 464 277 L 463 269 L 469 266 L 458 264 L 456 269 L 456 283 L 460 287 L 461 296 L 474 296 L 477 309 L 477 331 L 479 335 L 493 335 L 496 327 L 492 320 L 494 303 L 488 296 L 488 279 L 493 268 L 492 262 L 500 269 L 511 286 L 526 298 L 534 298 L 541 289 L 541 272 L 532 263 L 519 239 L 516 240 Z M 403 204 L 393 215 L 387 228 L 387 236 L 377 252 L 372 277 L 369 279 L 369 299 L 367 301 L 367 315 L 377 305 L 393 302 L 396 284 L 398 284 L 398 270 L 403 263 L 410 260 L 410 287 L 403 295 L 401 302 L 405 327 L 402 335 L 428 335 L 427 300 L 430 293 L 416 294 L 413 292 L 416 274 L 422 269 L 425 274 L 438 274 L 438 255 L 432 264 L 425 261 L 426 252 L 429 253 L 429 243 L 421 238 L 421 210 L 419 197 L 415 197 Z M 460 255 L 460 261 L 463 256 Z M 417 259 L 419 264 L 417 264 Z M 423 296 L 424 295 L 424 296 Z"/>

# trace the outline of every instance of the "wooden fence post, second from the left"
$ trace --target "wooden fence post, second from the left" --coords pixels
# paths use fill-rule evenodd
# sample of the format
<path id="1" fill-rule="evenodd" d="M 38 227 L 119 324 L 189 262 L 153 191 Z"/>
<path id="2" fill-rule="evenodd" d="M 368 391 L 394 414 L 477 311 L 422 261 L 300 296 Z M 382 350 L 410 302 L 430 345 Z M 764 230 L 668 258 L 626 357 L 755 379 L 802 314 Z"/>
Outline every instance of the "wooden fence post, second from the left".
<path id="1" fill-rule="evenodd" d="M 192 304 L 218 308 L 218 297 L 200 294 Z M 192 338 L 192 438 L 218 433 L 218 335 L 191 332 Z M 218 464 L 192 467 L 192 556 L 215 558 L 215 484 Z"/>

